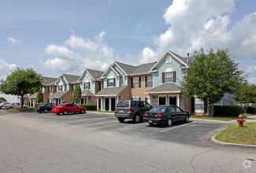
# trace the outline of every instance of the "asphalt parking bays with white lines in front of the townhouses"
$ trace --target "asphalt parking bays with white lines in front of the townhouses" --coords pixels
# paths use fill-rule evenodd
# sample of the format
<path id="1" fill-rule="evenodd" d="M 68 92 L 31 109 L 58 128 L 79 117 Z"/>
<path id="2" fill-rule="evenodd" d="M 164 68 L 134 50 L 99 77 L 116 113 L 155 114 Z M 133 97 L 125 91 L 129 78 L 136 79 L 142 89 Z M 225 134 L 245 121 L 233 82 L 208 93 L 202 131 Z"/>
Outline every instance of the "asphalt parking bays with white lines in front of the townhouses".
<path id="1" fill-rule="evenodd" d="M 154 138 L 161 141 L 201 146 L 210 145 L 210 137 L 216 134 L 217 131 L 221 131 L 221 129 L 228 126 L 219 123 L 199 123 L 190 121 L 190 123 L 173 123 L 172 127 L 165 125 L 154 125 L 150 127 L 148 123 L 133 123 L 132 120 L 125 120 L 124 123 L 119 123 L 114 116 L 99 115 L 90 112 L 85 114 L 69 114 L 67 116 L 57 116 L 54 113 L 28 112 L 19 113 L 18 116 L 38 119 L 40 122 L 46 124 L 54 122 L 65 124 L 67 127 L 80 127 L 91 131 L 115 131 L 124 136 Z"/>

